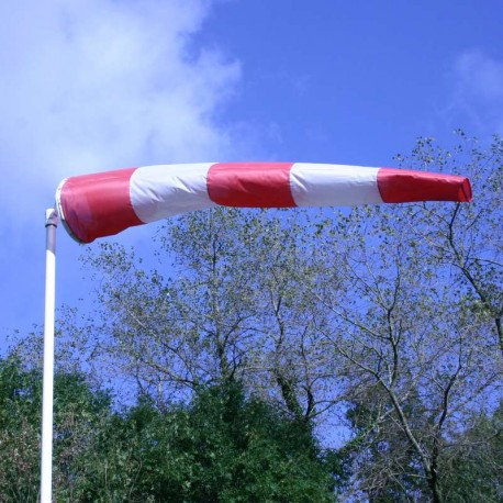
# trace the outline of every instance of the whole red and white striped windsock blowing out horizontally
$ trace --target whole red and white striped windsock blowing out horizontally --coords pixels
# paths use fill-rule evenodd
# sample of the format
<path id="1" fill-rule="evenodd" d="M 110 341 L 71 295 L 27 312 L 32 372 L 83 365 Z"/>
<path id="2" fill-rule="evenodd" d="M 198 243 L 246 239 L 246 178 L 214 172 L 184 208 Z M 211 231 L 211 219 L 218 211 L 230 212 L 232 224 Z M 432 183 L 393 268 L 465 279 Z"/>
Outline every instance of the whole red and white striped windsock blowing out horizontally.
<path id="1" fill-rule="evenodd" d="M 159 165 L 63 180 L 59 217 L 80 243 L 213 205 L 340 206 L 471 201 L 467 178 L 406 169 L 305 163 Z"/>

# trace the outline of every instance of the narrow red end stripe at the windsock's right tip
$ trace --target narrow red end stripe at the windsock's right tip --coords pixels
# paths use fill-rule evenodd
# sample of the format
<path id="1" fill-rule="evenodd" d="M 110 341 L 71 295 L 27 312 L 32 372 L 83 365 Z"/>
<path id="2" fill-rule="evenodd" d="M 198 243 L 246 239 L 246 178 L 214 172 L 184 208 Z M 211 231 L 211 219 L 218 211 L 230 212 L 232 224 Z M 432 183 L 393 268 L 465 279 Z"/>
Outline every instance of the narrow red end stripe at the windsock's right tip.
<path id="1" fill-rule="evenodd" d="M 455 175 L 381 168 L 378 188 L 383 202 L 471 201 L 468 178 Z"/>

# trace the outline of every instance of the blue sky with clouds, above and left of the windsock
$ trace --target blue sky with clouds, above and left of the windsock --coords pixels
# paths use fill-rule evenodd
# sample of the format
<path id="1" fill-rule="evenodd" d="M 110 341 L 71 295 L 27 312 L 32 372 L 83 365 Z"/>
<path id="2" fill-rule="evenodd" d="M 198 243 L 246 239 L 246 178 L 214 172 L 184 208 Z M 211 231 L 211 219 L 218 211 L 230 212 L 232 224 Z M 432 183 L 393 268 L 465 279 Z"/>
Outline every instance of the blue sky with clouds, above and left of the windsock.
<path id="1" fill-rule="evenodd" d="M 43 321 L 60 179 L 183 161 L 392 166 L 417 136 L 503 134 L 502 25 L 501 0 L 1 2 L 2 337 Z M 154 232 L 116 239 L 148 253 Z M 60 227 L 58 304 L 91 295 L 81 252 Z"/>

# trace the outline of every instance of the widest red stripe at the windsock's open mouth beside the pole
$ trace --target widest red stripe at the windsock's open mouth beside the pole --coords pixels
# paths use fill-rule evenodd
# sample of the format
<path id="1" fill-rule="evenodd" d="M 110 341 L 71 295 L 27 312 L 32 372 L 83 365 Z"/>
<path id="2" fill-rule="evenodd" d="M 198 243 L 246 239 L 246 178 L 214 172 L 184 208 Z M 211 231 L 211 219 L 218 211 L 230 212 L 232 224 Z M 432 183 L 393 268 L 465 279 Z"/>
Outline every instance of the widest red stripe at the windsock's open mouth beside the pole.
<path id="1" fill-rule="evenodd" d="M 130 198 L 130 179 L 136 168 L 68 178 L 60 187 L 58 204 L 64 224 L 81 243 L 111 236 L 143 222 Z"/>

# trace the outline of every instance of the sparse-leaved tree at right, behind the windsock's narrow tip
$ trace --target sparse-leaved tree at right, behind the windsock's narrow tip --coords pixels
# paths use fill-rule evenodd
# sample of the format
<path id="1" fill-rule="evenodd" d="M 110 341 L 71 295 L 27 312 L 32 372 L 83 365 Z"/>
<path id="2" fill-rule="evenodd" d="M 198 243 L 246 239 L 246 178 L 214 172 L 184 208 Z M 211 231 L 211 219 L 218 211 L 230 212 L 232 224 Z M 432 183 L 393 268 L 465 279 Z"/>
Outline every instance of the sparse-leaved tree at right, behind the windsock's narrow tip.
<path id="1" fill-rule="evenodd" d="M 318 298 L 333 315 L 318 326 L 346 360 L 350 410 L 367 411 L 359 455 L 368 461 L 370 452 L 371 463 L 358 482 L 369 495 L 401 487 L 407 498 L 411 480 L 421 489 L 423 479 L 420 493 L 445 501 L 443 470 L 468 448 L 451 440 L 473 410 L 491 409 L 501 387 L 503 267 L 494 236 L 503 148 L 500 138 L 487 152 L 462 141 L 450 154 L 421 139 L 402 159 L 456 172 L 467 156 L 459 169 L 471 175 L 472 205 L 354 210 L 334 235 L 360 237 L 331 242 L 340 287 L 325 282 Z"/>

